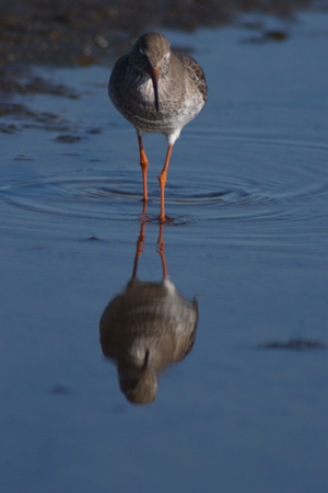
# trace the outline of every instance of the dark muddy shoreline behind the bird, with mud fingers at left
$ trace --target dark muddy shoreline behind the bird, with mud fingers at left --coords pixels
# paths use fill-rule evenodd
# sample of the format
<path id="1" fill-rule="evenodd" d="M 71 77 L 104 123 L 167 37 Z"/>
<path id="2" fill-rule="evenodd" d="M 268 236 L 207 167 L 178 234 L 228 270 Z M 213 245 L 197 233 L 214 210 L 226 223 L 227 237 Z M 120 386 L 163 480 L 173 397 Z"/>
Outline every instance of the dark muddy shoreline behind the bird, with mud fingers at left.
<path id="1" fill-rule="evenodd" d="M 13 0 L 0 4 L 0 117 L 15 114 L 33 118 L 28 108 L 10 103 L 15 94 L 49 93 L 78 98 L 71 89 L 35 78 L 28 66 L 89 66 L 112 64 L 130 48 L 131 42 L 149 28 L 173 27 L 192 31 L 234 22 L 245 12 L 292 18 L 312 0 Z M 321 2 L 325 4 L 325 2 Z M 327 3 L 327 2 L 326 2 Z M 263 32 L 281 42 L 285 32 Z M 25 115 L 25 116 L 24 116 Z M 11 133 L 3 119 L 0 131 Z"/>

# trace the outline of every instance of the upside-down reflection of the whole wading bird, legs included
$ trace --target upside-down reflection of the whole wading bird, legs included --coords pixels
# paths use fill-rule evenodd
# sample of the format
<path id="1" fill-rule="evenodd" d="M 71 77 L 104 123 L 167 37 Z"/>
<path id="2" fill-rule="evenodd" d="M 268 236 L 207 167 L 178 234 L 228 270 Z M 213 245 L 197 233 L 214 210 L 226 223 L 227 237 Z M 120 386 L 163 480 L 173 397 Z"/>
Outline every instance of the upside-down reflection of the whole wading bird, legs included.
<path id="1" fill-rule="evenodd" d="M 120 389 L 133 404 L 154 401 L 159 372 L 191 351 L 198 322 L 196 300 L 185 299 L 168 280 L 163 223 L 157 242 L 163 280 L 147 283 L 137 278 L 145 223 L 147 220 L 141 223 L 132 277 L 124 293 L 110 300 L 101 319 L 103 353 L 117 365 Z"/>

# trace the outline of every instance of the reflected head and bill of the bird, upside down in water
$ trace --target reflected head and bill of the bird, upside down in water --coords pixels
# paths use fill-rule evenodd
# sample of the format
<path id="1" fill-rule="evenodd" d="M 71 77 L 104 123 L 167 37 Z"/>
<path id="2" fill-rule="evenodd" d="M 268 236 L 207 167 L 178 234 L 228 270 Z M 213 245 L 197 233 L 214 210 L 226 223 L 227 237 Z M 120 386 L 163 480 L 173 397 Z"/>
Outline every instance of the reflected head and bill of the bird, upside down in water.
<path id="1" fill-rule="evenodd" d="M 157 374 L 149 367 L 149 349 L 143 364 L 136 366 L 118 365 L 119 387 L 126 398 L 133 404 L 149 404 L 157 393 Z"/>

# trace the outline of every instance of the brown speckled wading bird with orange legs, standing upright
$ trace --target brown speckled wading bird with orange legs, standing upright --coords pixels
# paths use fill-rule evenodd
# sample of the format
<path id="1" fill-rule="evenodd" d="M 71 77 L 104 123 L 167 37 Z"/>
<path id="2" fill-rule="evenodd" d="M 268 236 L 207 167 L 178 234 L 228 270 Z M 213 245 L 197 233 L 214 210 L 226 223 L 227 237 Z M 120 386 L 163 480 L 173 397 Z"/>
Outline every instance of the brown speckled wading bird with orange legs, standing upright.
<path id="1" fill-rule="evenodd" d="M 143 200 L 148 202 L 148 159 L 142 135 L 157 131 L 167 138 L 168 149 L 162 173 L 161 222 L 165 221 L 164 188 L 174 142 L 181 129 L 203 108 L 208 87 L 204 73 L 189 55 L 169 48 L 163 34 L 147 33 L 131 51 L 116 62 L 109 79 L 114 106 L 136 128 L 143 176 Z"/>

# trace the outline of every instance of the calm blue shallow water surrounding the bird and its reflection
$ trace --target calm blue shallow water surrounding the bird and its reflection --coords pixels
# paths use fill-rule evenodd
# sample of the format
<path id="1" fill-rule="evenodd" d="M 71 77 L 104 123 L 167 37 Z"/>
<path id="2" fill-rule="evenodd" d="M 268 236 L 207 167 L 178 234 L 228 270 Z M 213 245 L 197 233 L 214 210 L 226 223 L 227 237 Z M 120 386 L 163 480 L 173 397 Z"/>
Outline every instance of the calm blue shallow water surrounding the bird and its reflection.
<path id="1" fill-rule="evenodd" d="M 144 138 L 142 226 L 138 142 L 109 104 L 110 70 L 35 68 L 80 98 L 27 101 L 66 130 L 13 119 L 0 137 L 1 491 L 327 491 L 327 349 L 260 347 L 328 344 L 327 20 L 298 15 L 281 43 L 165 33 L 195 49 L 209 100 L 173 150 L 162 250 L 165 139 Z M 142 227 L 138 278 L 161 284 L 166 261 L 199 320 L 138 406 L 99 319 Z"/>

